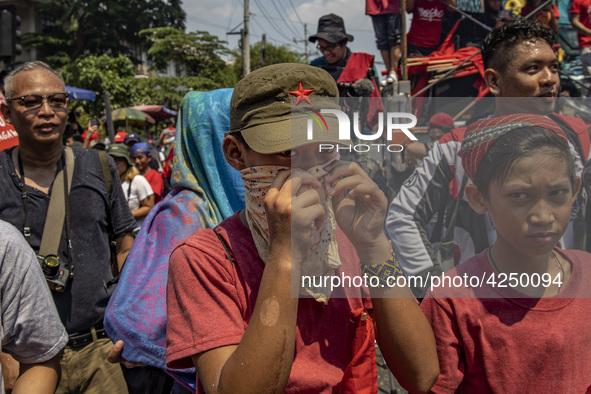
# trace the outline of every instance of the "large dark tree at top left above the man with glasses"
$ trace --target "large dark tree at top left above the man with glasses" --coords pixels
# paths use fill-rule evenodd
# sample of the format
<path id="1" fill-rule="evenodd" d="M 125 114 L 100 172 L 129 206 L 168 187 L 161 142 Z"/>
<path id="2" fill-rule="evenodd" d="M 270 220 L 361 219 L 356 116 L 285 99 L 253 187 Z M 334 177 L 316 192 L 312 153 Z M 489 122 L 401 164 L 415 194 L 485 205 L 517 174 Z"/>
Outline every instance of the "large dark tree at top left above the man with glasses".
<path id="1" fill-rule="evenodd" d="M 42 31 L 23 37 L 38 58 L 55 67 L 87 55 L 119 54 L 138 62 L 142 29 L 184 29 L 181 0 L 41 0 Z"/>

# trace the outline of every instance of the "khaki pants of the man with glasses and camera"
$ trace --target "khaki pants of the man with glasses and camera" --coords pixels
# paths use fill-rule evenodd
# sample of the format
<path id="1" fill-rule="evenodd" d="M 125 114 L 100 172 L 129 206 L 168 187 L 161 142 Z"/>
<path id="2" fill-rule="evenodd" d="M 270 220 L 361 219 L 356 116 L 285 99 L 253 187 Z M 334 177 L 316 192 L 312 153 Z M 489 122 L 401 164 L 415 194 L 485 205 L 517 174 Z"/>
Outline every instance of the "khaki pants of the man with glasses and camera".
<path id="1" fill-rule="evenodd" d="M 98 339 L 83 348 L 65 348 L 60 357 L 62 380 L 57 394 L 127 394 L 120 364 L 107 361 L 113 343 Z"/>

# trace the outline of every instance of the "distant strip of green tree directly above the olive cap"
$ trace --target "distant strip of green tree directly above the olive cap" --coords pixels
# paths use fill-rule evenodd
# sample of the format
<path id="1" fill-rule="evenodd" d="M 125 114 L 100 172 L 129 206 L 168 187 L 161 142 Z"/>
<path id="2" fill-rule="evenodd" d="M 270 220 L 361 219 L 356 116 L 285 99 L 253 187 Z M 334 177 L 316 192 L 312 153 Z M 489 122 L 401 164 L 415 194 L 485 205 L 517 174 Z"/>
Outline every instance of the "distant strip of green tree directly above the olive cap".
<path id="1" fill-rule="evenodd" d="M 263 53 L 263 63 L 261 64 L 261 46 L 262 42 L 257 42 L 250 46 L 250 70 L 254 71 L 263 66 L 269 66 L 277 63 L 305 63 L 304 56 L 301 53 L 291 50 L 286 45 L 276 46 L 270 43 L 265 44 L 265 51 Z M 234 66 L 233 73 L 237 80 L 240 80 L 242 75 L 242 51 L 233 51 Z"/>

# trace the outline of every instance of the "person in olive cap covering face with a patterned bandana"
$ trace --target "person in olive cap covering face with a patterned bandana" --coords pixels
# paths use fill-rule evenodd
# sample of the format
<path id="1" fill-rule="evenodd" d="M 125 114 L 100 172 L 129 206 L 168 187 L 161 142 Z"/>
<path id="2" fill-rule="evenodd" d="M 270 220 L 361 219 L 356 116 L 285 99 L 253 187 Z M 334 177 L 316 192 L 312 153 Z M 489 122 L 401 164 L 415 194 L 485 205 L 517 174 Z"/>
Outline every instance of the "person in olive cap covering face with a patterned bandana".
<path id="1" fill-rule="evenodd" d="M 328 73 L 301 64 L 258 69 L 234 89 L 223 148 L 246 209 L 170 258 L 167 366 L 195 366 L 198 392 L 377 392 L 374 324 L 405 388 L 427 392 L 437 377 L 410 291 L 378 287 L 402 274 L 383 232 L 387 201 L 339 160 L 336 146 L 349 141 L 321 113 L 337 96 Z M 375 288 L 302 281 L 344 274 Z"/>

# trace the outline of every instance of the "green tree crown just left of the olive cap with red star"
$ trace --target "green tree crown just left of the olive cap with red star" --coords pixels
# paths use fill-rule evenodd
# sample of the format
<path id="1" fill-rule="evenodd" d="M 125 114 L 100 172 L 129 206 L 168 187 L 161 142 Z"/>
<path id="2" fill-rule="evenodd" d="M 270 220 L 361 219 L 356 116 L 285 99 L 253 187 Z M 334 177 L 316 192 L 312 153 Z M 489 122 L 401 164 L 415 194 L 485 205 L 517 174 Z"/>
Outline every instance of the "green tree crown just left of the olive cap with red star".
<path id="1" fill-rule="evenodd" d="M 227 42 L 205 31 L 185 33 L 173 27 L 158 27 L 139 33 L 149 45 L 148 57 L 154 68 L 162 69 L 174 61 L 191 76 L 208 78 L 223 86 L 232 86 L 223 56 L 230 54 Z"/>

